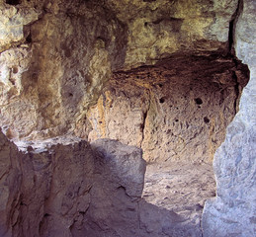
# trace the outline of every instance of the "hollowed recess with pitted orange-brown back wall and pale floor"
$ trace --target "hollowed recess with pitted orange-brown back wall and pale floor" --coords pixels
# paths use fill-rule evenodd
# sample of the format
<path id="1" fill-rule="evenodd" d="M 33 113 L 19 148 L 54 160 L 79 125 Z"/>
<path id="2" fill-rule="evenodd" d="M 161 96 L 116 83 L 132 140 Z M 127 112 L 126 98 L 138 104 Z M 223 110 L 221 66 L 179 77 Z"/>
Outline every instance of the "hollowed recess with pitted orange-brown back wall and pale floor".
<path id="1" fill-rule="evenodd" d="M 215 196 L 213 154 L 247 82 L 247 66 L 211 54 L 116 72 L 87 115 L 89 140 L 141 147 L 144 199 L 199 221 L 205 200 Z"/>

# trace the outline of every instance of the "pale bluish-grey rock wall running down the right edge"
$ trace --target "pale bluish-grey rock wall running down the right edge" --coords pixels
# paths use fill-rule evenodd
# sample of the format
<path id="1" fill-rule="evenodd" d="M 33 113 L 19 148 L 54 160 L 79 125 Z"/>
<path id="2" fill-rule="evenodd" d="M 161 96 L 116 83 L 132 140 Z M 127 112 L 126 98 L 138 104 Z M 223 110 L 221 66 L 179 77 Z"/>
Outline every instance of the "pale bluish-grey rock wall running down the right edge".
<path id="1" fill-rule="evenodd" d="M 239 113 L 227 127 L 213 166 L 217 196 L 204 209 L 204 236 L 254 237 L 256 233 L 256 2 L 243 1 L 236 24 L 235 50 L 250 69 Z"/>

